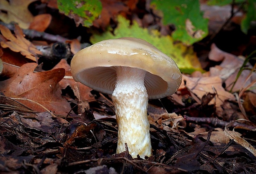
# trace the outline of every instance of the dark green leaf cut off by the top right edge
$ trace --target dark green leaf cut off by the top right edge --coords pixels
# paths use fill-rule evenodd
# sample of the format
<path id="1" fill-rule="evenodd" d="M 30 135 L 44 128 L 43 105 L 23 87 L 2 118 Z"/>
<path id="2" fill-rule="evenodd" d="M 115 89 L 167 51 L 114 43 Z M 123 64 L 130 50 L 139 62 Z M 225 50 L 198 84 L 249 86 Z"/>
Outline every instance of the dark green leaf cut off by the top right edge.
<path id="1" fill-rule="evenodd" d="M 247 34 L 248 30 L 251 28 L 251 22 L 256 21 L 256 1 L 255 0 L 247 0 L 247 15 L 242 20 L 241 30 L 245 34 Z"/>

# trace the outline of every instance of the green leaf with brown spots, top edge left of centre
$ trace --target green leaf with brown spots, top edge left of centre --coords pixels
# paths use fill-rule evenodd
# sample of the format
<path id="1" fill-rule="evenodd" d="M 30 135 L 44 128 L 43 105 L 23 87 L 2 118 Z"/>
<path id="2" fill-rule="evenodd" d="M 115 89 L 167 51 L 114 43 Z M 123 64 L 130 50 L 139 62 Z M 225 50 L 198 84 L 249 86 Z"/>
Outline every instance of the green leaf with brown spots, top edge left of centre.
<path id="1" fill-rule="evenodd" d="M 59 12 L 74 19 L 76 26 L 80 23 L 85 27 L 100 15 L 102 4 L 100 0 L 57 0 Z"/>

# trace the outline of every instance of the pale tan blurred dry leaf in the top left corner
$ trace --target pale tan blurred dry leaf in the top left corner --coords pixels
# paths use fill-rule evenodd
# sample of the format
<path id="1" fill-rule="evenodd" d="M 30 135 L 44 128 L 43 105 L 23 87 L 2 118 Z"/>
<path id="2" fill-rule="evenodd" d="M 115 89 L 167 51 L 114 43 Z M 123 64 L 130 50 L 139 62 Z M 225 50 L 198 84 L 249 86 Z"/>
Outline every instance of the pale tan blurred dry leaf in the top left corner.
<path id="1" fill-rule="evenodd" d="M 33 21 L 28 5 L 36 0 L 0 0 L 0 19 L 4 23 L 15 22 L 27 29 Z"/>

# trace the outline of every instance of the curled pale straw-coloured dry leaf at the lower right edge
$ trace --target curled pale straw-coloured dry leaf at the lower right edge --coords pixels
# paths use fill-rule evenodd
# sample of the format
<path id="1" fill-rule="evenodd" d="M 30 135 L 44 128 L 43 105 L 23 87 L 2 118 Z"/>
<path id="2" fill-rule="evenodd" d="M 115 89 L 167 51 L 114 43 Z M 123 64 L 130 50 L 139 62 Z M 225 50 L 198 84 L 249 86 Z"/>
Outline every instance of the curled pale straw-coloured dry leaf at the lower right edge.
<path id="1" fill-rule="evenodd" d="M 233 128 L 232 131 L 228 130 L 228 128 L 231 127 L 232 124 L 237 121 L 246 121 L 246 122 L 252 123 L 251 121 L 248 121 L 246 119 L 238 119 L 236 121 L 232 121 L 225 126 L 225 130 L 224 130 L 225 135 L 228 136 L 230 139 L 234 139 L 234 141 L 236 143 L 238 143 L 241 146 L 243 146 L 244 148 L 246 148 L 248 151 L 250 151 L 256 157 L 256 149 L 251 144 L 249 144 L 245 139 L 243 139 L 238 132 L 235 131 L 235 128 L 237 128 L 237 126 L 235 128 Z M 239 126 L 239 128 L 241 128 L 241 126 Z M 248 130 L 248 128 L 243 128 L 243 129 Z M 255 129 L 254 129 L 254 131 L 255 131 Z"/>

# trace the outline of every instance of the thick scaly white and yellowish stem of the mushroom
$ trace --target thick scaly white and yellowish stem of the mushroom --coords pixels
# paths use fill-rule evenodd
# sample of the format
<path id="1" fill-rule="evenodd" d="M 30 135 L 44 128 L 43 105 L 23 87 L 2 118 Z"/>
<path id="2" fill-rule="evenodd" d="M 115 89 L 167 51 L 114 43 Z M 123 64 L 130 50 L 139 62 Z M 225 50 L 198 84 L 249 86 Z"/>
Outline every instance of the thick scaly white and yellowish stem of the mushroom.
<path id="1" fill-rule="evenodd" d="M 125 151 L 127 143 L 133 158 L 152 155 L 145 74 L 146 71 L 137 68 L 116 67 L 116 87 L 112 94 L 119 128 L 116 153 Z"/>

